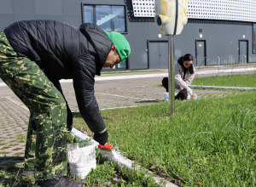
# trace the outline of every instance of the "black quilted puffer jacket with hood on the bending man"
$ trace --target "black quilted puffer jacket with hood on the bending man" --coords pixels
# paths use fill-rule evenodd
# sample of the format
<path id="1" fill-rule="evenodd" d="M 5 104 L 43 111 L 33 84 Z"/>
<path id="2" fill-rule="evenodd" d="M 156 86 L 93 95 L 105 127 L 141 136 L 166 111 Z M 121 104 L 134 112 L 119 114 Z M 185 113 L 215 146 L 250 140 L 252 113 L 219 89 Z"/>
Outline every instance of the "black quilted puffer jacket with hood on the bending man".
<path id="1" fill-rule="evenodd" d="M 99 26 L 78 28 L 56 20 L 23 20 L 4 29 L 19 56 L 35 61 L 48 77 L 73 79 L 79 111 L 92 132 L 105 128 L 94 96 L 94 77 L 100 75 L 113 42 Z"/>

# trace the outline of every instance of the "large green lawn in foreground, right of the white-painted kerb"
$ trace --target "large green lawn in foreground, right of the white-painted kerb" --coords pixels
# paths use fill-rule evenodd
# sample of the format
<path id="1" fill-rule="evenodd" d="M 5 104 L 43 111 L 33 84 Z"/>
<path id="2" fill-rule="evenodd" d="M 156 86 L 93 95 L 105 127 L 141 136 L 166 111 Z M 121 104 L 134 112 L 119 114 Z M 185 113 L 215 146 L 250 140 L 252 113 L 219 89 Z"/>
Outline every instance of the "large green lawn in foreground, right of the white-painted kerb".
<path id="1" fill-rule="evenodd" d="M 255 186 L 256 92 L 175 102 L 102 111 L 108 144 L 180 186 Z"/>

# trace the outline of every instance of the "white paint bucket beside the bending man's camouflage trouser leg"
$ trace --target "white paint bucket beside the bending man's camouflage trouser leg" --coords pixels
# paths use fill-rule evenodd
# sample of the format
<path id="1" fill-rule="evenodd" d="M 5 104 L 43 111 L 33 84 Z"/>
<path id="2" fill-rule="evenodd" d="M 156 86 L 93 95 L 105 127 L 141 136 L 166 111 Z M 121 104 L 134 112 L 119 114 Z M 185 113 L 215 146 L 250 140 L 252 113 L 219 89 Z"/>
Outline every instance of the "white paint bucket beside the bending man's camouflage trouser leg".
<path id="1" fill-rule="evenodd" d="M 91 168 L 96 168 L 96 151 L 93 143 L 75 143 L 67 146 L 70 174 L 86 178 Z"/>

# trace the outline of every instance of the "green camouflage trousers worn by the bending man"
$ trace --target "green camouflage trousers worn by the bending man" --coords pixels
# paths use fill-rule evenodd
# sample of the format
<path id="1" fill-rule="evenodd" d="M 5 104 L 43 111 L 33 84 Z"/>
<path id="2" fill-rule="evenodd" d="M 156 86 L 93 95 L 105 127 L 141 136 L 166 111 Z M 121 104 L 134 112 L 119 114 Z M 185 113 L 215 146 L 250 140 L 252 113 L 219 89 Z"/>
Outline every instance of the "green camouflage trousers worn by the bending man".
<path id="1" fill-rule="evenodd" d="M 0 78 L 30 111 L 25 169 L 37 180 L 67 176 L 67 105 L 30 59 L 19 57 L 0 32 Z"/>

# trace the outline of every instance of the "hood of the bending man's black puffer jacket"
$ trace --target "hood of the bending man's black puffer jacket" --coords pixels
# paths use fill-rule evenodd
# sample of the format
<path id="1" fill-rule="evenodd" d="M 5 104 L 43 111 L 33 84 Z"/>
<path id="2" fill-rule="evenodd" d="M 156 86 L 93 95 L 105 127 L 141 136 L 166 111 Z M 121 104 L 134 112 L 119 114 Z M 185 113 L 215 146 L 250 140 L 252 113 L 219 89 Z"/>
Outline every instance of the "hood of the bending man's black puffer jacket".
<path id="1" fill-rule="evenodd" d="M 91 23 L 84 23 L 79 27 L 79 31 L 87 38 L 96 50 L 96 75 L 101 75 L 101 70 L 106 62 L 113 42 L 109 39 L 105 31 L 100 26 Z"/>

